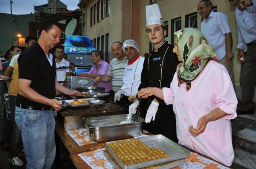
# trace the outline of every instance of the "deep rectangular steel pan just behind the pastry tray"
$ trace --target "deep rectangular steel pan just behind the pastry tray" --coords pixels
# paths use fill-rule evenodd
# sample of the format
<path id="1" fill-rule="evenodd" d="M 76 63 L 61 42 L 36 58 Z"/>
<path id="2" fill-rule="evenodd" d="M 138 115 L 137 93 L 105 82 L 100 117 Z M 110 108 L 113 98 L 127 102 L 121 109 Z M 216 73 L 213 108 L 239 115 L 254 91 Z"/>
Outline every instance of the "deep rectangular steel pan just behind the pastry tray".
<path id="1" fill-rule="evenodd" d="M 129 117 L 128 114 L 91 117 L 84 118 L 84 123 L 87 133 L 95 142 L 142 135 L 144 119 L 140 116 L 133 115 L 129 123 L 120 124 L 122 121 L 127 121 Z"/>

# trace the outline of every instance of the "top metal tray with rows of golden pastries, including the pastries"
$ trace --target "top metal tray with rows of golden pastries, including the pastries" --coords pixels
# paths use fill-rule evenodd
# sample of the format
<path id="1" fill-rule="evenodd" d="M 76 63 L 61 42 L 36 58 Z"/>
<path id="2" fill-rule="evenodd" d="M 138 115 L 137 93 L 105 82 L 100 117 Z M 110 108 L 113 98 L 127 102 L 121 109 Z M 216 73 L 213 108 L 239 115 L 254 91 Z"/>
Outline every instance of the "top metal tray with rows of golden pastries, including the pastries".
<path id="1" fill-rule="evenodd" d="M 122 169 L 139 169 L 180 161 L 190 155 L 189 150 L 163 135 L 111 141 L 105 144 L 105 148 Z"/>

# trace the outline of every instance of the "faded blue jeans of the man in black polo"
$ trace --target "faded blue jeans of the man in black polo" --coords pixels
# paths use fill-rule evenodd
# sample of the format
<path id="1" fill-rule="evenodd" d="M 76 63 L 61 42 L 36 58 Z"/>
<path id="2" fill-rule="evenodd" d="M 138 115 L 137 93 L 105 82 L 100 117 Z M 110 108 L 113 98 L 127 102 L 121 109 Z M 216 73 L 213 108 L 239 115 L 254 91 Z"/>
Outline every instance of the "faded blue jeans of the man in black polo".
<path id="1" fill-rule="evenodd" d="M 55 121 L 52 110 L 16 106 L 15 121 L 21 130 L 27 169 L 51 169 L 55 159 Z"/>

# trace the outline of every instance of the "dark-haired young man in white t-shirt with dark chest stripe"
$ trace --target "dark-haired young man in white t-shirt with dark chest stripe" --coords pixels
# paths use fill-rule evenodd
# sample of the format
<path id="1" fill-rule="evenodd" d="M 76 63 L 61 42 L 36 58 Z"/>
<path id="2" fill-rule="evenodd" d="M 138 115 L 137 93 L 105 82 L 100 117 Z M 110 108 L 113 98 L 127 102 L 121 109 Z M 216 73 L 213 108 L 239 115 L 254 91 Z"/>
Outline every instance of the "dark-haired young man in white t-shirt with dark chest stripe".
<path id="1" fill-rule="evenodd" d="M 67 86 L 67 76 L 71 76 L 70 62 L 63 58 L 64 46 L 55 46 L 56 80 L 63 86 Z"/>

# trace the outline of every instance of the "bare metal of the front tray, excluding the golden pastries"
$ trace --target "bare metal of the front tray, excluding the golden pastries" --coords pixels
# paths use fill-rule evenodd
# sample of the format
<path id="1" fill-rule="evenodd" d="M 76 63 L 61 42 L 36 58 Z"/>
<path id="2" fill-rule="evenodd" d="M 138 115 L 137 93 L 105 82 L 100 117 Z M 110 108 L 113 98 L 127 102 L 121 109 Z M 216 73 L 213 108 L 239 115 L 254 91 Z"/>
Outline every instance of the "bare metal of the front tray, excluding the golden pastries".
<path id="1" fill-rule="evenodd" d="M 122 169 L 139 169 L 142 167 L 154 166 L 161 163 L 168 163 L 171 161 L 188 158 L 190 155 L 189 150 L 185 149 L 179 144 L 176 144 L 175 142 L 171 141 L 170 139 L 166 138 L 163 135 L 139 137 L 138 139 L 142 141 L 144 144 L 146 144 L 149 148 L 155 147 L 156 149 L 162 149 L 164 152 L 166 152 L 169 155 L 169 157 L 160 158 L 152 161 L 146 161 L 143 163 L 131 164 L 127 166 L 127 165 L 124 165 L 116 156 L 116 154 L 112 152 L 111 149 L 108 147 L 108 144 L 114 141 L 107 142 L 105 144 L 105 148 Z"/>

